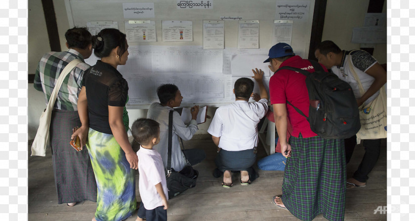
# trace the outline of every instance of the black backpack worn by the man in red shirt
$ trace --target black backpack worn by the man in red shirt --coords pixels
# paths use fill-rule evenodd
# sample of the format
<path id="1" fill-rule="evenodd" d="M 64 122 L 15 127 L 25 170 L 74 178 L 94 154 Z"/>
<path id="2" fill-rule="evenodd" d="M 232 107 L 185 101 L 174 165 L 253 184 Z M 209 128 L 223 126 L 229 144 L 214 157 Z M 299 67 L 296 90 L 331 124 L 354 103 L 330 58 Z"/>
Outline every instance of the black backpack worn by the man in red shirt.
<path id="1" fill-rule="evenodd" d="M 346 139 L 360 129 L 359 109 L 350 85 L 337 75 L 323 70 L 316 61 L 309 60 L 313 73 L 299 68 L 284 66 L 277 70 L 290 70 L 306 76 L 305 83 L 310 98 L 308 117 L 291 105 L 299 114 L 307 118 L 311 130 L 325 139 Z"/>

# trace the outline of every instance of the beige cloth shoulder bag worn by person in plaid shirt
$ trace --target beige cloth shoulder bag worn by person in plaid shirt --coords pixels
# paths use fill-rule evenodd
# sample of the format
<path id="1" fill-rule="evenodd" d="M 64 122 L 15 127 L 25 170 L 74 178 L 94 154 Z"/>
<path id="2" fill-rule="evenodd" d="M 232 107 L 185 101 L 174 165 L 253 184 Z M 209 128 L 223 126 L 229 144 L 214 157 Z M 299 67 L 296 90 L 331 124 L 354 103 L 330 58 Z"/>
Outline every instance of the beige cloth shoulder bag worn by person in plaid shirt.
<path id="1" fill-rule="evenodd" d="M 68 75 L 72 69 L 75 68 L 82 61 L 75 59 L 62 70 L 58 80 L 56 81 L 55 87 L 53 88 L 52 93 L 50 94 L 49 103 L 46 106 L 46 109 L 43 111 L 41 118 L 39 119 L 39 128 L 36 133 L 35 140 L 32 144 L 32 154 L 31 156 L 45 156 L 46 146 L 49 141 L 49 125 L 52 115 L 53 105 L 55 104 L 56 97 L 58 95 L 59 89 L 62 86 L 63 79 Z"/>

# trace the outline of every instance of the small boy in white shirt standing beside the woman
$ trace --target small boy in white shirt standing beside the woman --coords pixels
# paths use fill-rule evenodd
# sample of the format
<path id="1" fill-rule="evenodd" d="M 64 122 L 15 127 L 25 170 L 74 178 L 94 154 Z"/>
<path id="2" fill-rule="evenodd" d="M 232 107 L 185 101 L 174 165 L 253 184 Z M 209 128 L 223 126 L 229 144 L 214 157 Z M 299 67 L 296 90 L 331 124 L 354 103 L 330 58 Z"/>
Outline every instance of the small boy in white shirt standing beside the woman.
<path id="1" fill-rule="evenodd" d="M 137 151 L 141 204 L 136 221 L 167 221 L 168 194 L 163 160 L 153 149 L 160 142 L 159 123 L 140 118 L 132 124 L 131 132 L 141 144 Z"/>

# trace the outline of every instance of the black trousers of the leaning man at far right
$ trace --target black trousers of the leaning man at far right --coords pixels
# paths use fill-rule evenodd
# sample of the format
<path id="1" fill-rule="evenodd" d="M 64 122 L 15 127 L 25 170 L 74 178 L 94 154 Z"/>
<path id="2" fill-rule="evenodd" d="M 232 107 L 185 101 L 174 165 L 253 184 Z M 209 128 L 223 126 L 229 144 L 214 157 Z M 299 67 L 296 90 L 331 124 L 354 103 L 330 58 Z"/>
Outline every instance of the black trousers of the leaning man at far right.
<path id="1" fill-rule="evenodd" d="M 344 139 L 344 148 L 346 153 L 346 163 L 349 163 L 352 157 L 353 150 L 356 147 L 356 136 Z M 372 171 L 374 165 L 379 159 L 380 155 L 380 139 L 363 140 L 363 147 L 365 147 L 365 155 L 359 168 L 353 174 L 353 178 L 359 182 L 366 183 L 369 179 L 368 174 Z"/>

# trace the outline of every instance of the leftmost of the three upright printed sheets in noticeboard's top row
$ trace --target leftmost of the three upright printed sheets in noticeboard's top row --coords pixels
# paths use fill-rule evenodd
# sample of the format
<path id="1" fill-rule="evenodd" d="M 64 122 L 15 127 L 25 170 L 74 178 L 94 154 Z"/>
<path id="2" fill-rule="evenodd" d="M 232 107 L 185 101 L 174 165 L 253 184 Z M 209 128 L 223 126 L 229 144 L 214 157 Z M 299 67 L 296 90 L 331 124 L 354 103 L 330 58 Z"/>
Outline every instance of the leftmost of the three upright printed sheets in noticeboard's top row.
<path id="1" fill-rule="evenodd" d="M 203 49 L 225 47 L 225 21 L 203 21 Z"/>

